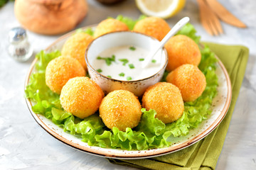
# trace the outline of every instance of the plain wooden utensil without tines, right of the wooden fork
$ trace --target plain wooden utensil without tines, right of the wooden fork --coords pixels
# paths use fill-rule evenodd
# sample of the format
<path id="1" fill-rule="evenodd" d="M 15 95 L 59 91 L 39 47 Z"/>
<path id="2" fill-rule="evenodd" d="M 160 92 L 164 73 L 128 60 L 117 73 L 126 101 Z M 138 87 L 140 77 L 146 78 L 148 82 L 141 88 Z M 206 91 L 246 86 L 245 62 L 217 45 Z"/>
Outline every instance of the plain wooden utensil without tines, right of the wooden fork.
<path id="1" fill-rule="evenodd" d="M 232 26 L 237 26 L 240 28 L 246 28 L 247 26 L 242 23 L 238 18 L 233 16 L 230 11 L 228 11 L 224 6 L 222 6 L 217 0 L 206 0 L 210 9 L 225 23 L 228 23 Z"/>

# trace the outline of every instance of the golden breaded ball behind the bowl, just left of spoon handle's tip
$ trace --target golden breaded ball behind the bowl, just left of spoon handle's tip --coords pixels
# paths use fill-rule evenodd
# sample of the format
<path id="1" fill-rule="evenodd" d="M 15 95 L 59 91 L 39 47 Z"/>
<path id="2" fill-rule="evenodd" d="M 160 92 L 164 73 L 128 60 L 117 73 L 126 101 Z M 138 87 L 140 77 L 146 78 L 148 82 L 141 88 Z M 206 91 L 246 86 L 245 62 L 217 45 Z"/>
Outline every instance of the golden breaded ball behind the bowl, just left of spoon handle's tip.
<path id="1" fill-rule="evenodd" d="M 150 35 L 161 41 L 171 28 L 164 19 L 152 16 L 138 21 L 133 30 L 138 33 Z"/>

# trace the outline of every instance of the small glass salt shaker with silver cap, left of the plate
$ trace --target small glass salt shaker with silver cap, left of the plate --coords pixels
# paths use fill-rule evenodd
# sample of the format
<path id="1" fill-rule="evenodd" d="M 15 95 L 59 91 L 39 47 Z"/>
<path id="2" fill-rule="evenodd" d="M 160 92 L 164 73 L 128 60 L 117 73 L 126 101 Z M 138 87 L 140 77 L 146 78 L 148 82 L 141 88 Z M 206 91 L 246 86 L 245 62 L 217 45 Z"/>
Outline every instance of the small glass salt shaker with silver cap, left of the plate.
<path id="1" fill-rule="evenodd" d="M 9 31 L 9 55 L 18 62 L 26 62 L 32 55 L 33 49 L 28 42 L 26 30 L 21 27 Z"/>

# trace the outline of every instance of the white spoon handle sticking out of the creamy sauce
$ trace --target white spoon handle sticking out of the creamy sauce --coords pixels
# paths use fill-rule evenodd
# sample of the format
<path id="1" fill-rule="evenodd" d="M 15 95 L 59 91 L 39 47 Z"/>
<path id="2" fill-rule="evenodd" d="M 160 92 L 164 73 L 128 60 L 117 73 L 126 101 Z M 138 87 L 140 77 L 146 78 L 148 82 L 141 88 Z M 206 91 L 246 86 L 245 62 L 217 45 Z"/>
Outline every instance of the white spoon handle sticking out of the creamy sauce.
<path id="1" fill-rule="evenodd" d="M 184 18 L 182 18 L 180 21 L 178 21 L 178 23 L 175 24 L 175 26 L 173 28 L 171 28 L 171 30 L 169 31 L 169 33 L 166 34 L 166 36 L 163 38 L 163 40 L 160 41 L 159 45 L 156 46 L 156 48 L 154 50 L 152 50 L 149 55 L 146 57 L 146 60 L 142 63 L 142 68 L 145 68 L 149 65 L 149 62 L 151 61 L 151 59 L 154 57 L 154 55 L 156 55 L 156 52 L 158 52 L 158 50 L 161 47 L 164 47 L 164 44 L 172 37 L 174 36 L 178 30 L 180 30 L 183 26 L 186 25 L 186 23 L 188 23 L 189 18 L 186 16 Z"/>

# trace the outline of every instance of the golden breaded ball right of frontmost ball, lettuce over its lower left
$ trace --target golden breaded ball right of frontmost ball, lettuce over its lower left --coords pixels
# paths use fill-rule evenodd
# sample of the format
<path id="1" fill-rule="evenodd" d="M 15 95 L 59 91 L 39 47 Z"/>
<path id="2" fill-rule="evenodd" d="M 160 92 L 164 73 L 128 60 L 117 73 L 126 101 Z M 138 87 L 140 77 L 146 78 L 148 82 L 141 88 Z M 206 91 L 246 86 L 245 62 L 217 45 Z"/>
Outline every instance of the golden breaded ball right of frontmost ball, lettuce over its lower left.
<path id="1" fill-rule="evenodd" d="M 181 91 L 174 84 L 166 82 L 159 82 L 146 89 L 142 97 L 142 107 L 147 111 L 154 109 L 156 118 L 163 123 L 178 120 L 184 111 Z"/>

